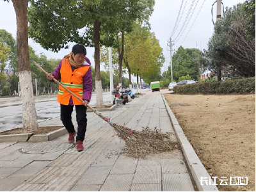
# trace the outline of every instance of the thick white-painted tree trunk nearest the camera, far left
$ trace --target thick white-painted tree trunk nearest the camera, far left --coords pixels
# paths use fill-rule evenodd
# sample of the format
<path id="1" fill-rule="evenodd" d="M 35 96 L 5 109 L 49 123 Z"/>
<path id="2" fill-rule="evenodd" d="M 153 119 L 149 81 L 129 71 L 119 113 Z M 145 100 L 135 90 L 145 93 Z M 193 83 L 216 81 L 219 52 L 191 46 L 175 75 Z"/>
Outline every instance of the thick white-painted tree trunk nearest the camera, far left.
<path id="1" fill-rule="evenodd" d="M 28 1 L 13 0 L 17 19 L 17 56 L 22 92 L 22 123 L 26 130 L 36 131 L 38 122 L 36 118 L 35 100 L 33 95 L 32 76 L 29 65 L 28 48 Z"/>

